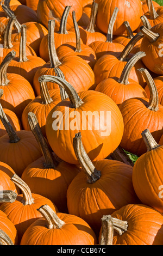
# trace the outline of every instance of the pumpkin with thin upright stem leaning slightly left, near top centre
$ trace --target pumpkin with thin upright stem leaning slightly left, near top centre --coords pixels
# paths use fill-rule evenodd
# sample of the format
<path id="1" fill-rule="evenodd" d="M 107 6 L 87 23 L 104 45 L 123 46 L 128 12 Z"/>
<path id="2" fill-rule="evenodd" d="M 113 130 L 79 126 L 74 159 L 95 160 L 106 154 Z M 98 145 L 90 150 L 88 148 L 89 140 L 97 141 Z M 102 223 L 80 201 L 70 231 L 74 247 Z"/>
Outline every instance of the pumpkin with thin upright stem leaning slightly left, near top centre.
<path id="1" fill-rule="evenodd" d="M 75 11 L 73 11 L 72 15 L 73 15 L 74 28 L 76 32 L 76 43 L 70 41 L 70 42 L 67 42 L 66 44 L 62 44 L 61 46 L 59 46 L 57 49 L 57 56 L 58 58 L 61 58 L 64 56 L 70 56 L 70 55 L 79 56 L 80 58 L 84 59 L 87 62 L 87 64 L 89 64 L 90 67 L 93 69 L 96 63 L 96 54 L 91 47 L 81 43 L 80 31 L 76 21 Z"/>

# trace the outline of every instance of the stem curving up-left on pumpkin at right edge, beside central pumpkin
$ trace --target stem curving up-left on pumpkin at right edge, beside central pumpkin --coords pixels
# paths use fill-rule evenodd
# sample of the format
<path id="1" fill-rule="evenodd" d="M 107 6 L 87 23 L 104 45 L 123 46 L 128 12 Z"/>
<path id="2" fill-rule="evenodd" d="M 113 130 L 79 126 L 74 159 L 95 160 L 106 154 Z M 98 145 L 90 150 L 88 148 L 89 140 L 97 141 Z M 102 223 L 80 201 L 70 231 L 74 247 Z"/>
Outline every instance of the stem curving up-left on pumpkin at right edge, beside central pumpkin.
<path id="1" fill-rule="evenodd" d="M 139 72 L 143 75 L 145 78 L 147 85 L 150 90 L 150 98 L 149 98 L 149 103 L 148 103 L 148 108 L 151 109 L 152 111 L 158 111 L 159 110 L 159 95 L 158 95 L 158 90 L 155 86 L 154 80 L 152 76 L 149 74 L 147 69 L 139 69 Z"/>

